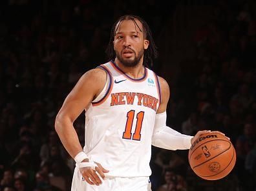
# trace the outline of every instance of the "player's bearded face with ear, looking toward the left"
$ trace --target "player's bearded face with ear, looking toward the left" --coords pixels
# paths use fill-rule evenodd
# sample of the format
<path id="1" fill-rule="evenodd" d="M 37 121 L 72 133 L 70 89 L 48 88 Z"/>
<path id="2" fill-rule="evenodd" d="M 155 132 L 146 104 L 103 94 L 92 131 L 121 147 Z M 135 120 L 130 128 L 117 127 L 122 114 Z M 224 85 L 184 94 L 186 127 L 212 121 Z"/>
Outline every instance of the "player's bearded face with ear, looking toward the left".
<path id="1" fill-rule="evenodd" d="M 123 20 L 119 26 L 116 25 L 118 28 L 113 41 L 118 61 L 127 67 L 138 65 L 149 46 L 149 41 L 144 39 L 142 23 L 135 21 L 140 28 L 133 20 Z"/>

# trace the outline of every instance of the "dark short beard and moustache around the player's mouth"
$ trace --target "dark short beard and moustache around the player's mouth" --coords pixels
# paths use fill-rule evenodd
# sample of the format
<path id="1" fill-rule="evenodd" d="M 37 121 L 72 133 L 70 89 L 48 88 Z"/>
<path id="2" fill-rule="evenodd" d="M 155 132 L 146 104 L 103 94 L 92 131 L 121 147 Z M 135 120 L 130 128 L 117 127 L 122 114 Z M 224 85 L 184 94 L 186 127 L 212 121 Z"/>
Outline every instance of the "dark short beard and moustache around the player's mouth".
<path id="1" fill-rule="evenodd" d="M 123 58 L 123 57 L 122 57 L 122 52 L 123 52 L 123 50 L 122 50 L 121 54 L 116 51 L 116 57 L 118 58 L 118 60 L 119 60 L 124 66 L 133 68 L 133 67 L 137 66 L 138 63 L 140 62 L 140 60 L 142 59 L 142 56 L 143 56 L 143 54 L 144 54 L 144 50 L 140 50 L 140 51 L 138 52 L 138 55 L 136 55 L 136 52 L 134 52 L 134 50 L 132 50 L 132 49 L 130 49 L 130 48 L 129 48 L 129 50 L 133 51 L 133 53 L 134 53 L 134 55 L 135 55 L 134 59 L 130 59 L 130 58 L 125 59 L 125 58 Z"/>

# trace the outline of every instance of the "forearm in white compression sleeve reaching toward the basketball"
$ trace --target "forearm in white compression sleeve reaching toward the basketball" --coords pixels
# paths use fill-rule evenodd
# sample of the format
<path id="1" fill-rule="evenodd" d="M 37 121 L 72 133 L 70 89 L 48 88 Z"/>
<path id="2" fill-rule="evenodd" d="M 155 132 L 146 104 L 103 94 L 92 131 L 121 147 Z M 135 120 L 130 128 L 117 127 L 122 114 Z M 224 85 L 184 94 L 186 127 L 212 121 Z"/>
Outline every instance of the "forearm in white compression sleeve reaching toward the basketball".
<path id="1" fill-rule="evenodd" d="M 184 150 L 191 146 L 192 136 L 180 134 L 169 126 L 162 126 L 152 136 L 152 145 L 169 150 Z"/>

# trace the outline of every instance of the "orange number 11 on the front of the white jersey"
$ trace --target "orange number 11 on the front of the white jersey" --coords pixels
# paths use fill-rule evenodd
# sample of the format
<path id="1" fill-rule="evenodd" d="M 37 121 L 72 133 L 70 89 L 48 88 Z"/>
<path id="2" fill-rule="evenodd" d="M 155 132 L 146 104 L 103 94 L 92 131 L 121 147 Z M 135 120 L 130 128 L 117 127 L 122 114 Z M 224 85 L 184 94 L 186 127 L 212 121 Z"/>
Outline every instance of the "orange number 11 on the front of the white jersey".
<path id="1" fill-rule="evenodd" d="M 136 115 L 136 127 L 132 138 L 132 127 L 133 127 L 133 119 L 134 119 L 135 110 L 130 110 L 127 112 L 127 121 L 125 125 L 125 131 L 123 132 L 123 139 L 133 139 L 136 141 L 140 141 L 140 131 L 142 130 L 142 122 L 144 118 L 144 112 L 138 112 Z"/>

